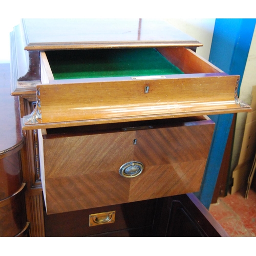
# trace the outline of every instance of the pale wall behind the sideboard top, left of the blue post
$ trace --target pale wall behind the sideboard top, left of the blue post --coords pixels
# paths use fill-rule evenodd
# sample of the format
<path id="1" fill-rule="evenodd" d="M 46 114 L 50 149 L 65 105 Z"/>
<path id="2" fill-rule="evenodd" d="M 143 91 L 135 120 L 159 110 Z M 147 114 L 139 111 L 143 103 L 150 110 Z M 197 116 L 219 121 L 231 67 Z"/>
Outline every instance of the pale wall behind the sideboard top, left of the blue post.
<path id="1" fill-rule="evenodd" d="M 172 18 L 164 20 L 200 41 L 204 46 L 198 48 L 197 53 L 208 60 L 215 19 Z M 10 32 L 18 24 L 19 18 L 0 18 L 0 63 L 10 62 Z"/>

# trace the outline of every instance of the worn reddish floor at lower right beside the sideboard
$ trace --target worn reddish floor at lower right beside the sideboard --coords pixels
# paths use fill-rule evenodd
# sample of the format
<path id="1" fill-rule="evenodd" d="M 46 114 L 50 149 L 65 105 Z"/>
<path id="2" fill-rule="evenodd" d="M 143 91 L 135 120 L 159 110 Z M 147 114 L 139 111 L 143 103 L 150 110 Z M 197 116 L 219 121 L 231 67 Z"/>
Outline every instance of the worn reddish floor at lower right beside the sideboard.
<path id="1" fill-rule="evenodd" d="M 248 199 L 244 195 L 238 191 L 210 205 L 211 215 L 230 237 L 256 237 L 256 192 L 250 190 Z"/>

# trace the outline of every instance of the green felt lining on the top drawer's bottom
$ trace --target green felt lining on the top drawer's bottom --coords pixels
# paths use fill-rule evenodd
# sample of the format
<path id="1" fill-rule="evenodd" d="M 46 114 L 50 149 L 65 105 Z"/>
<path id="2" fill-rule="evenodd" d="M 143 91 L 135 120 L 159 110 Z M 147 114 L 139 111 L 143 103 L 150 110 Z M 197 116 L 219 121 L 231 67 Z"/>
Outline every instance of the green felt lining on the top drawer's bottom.
<path id="1" fill-rule="evenodd" d="M 153 48 L 47 51 L 54 79 L 184 74 Z"/>

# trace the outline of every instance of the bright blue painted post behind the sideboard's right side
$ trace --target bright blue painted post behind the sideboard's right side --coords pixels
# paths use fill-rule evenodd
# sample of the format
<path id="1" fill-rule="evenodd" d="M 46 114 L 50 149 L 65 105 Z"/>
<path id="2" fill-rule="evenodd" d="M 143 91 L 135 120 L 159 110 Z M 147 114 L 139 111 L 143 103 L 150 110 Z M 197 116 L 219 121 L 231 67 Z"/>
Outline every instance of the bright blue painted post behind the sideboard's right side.
<path id="1" fill-rule="evenodd" d="M 216 19 L 209 61 L 229 75 L 240 75 L 240 85 L 250 49 L 256 19 Z M 239 93 L 238 91 L 238 93 Z M 206 208 L 210 207 L 221 167 L 233 114 L 209 116 L 215 123 L 206 169 L 198 193 Z"/>

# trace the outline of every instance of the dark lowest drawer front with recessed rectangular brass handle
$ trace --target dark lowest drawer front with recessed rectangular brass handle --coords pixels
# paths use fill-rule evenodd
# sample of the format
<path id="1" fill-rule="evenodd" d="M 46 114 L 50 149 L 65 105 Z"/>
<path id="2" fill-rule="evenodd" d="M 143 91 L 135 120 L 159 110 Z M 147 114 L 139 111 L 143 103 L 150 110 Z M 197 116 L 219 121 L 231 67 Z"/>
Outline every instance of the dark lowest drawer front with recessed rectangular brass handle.
<path id="1" fill-rule="evenodd" d="M 151 236 L 157 199 L 47 215 L 46 237 Z M 90 225 L 90 215 L 115 211 L 115 221 Z"/>

